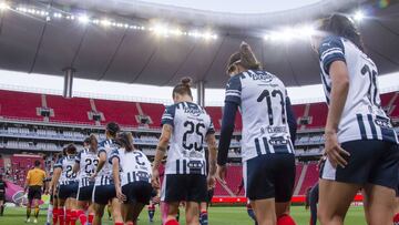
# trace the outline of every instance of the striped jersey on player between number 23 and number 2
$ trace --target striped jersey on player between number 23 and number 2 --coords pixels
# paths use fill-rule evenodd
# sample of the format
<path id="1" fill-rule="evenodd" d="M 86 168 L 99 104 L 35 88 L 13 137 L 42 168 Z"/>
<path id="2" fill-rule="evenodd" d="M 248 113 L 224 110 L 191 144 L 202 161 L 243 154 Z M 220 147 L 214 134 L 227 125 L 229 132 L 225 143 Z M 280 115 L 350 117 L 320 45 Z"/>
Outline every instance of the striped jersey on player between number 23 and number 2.
<path id="1" fill-rule="evenodd" d="M 106 161 L 104 166 L 99 172 L 98 176 L 95 177 L 95 185 L 110 185 L 113 184 L 112 180 L 112 165 L 109 162 L 111 157 L 111 153 L 113 150 L 117 149 L 114 140 L 105 140 L 99 143 L 99 156 L 101 153 L 106 154 Z"/>

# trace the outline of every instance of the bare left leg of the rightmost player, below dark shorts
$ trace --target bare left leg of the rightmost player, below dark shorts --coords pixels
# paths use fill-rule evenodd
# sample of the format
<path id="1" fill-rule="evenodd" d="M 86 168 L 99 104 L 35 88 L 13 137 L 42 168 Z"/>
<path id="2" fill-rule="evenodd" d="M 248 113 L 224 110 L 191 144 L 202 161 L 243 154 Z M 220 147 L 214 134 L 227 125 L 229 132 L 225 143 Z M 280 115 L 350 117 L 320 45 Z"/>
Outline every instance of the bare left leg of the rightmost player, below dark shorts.
<path id="1" fill-rule="evenodd" d="M 342 182 L 319 181 L 318 218 L 323 225 L 340 225 L 360 185 Z M 338 194 L 339 193 L 339 194 Z"/>

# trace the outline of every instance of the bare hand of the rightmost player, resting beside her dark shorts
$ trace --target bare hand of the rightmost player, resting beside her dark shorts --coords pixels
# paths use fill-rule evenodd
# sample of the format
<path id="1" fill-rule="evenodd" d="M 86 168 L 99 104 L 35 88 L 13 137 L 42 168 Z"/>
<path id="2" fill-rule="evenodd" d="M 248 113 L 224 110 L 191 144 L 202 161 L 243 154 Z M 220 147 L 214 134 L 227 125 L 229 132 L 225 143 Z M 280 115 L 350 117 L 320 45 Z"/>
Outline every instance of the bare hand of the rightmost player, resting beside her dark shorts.
<path id="1" fill-rule="evenodd" d="M 344 155 L 350 156 L 350 154 L 339 145 L 336 132 L 326 132 L 325 137 L 325 154 L 327 155 L 327 158 L 334 167 L 339 165 L 344 168 L 346 165 L 348 165 L 348 162 L 344 158 Z"/>

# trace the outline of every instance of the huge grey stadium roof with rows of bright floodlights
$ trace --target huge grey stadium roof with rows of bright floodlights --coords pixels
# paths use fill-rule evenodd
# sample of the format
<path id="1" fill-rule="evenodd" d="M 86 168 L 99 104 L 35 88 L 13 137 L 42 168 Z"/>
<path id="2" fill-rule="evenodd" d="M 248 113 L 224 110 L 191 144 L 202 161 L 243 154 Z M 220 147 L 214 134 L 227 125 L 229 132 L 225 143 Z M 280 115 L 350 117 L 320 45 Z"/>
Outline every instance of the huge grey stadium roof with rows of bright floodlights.
<path id="1" fill-rule="evenodd" d="M 300 25 L 359 9 L 365 12 L 359 28 L 379 73 L 398 71 L 399 3 L 388 0 L 324 0 L 266 13 L 127 0 L 6 1 L 0 3 L 0 68 L 60 76 L 73 68 L 75 78 L 154 85 L 190 75 L 206 88 L 224 88 L 226 61 L 244 40 L 286 85 L 316 84 L 317 55 L 298 38 L 310 32 Z"/>

